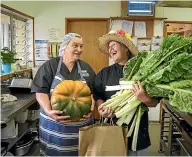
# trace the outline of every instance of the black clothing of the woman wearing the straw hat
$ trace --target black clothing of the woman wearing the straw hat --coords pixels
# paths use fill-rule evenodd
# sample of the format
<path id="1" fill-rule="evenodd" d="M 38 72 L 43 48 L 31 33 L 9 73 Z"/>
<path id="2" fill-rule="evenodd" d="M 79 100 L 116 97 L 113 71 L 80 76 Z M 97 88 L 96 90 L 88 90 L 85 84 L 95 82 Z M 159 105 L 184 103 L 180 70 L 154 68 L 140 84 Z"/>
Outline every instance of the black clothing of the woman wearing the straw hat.
<path id="1" fill-rule="evenodd" d="M 102 69 L 95 77 L 93 96 L 95 100 L 102 99 L 106 101 L 110 99 L 116 91 L 105 91 L 105 86 L 119 85 L 119 79 L 123 77 L 123 66 L 119 64 L 113 64 L 109 67 Z M 114 122 L 117 121 L 117 118 L 114 118 Z M 129 125 L 128 127 L 130 127 Z M 133 140 L 133 134 L 128 138 L 128 148 L 131 150 Z M 148 132 L 148 112 L 145 112 L 141 117 L 138 141 L 137 141 L 137 150 L 145 149 L 150 146 L 150 138 Z"/>

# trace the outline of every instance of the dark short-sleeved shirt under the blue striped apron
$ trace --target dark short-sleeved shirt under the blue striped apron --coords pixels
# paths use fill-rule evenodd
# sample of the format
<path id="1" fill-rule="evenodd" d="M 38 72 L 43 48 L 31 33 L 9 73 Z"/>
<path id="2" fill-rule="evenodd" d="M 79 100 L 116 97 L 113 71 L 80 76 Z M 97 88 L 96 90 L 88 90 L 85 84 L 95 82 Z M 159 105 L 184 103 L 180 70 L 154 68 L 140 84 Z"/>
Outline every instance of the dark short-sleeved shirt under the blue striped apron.
<path id="1" fill-rule="evenodd" d="M 53 82 L 53 79 L 55 77 L 57 67 L 59 64 L 59 57 L 53 58 L 51 60 L 46 61 L 37 71 L 35 78 L 33 80 L 32 85 L 32 92 L 37 93 L 49 93 L 51 84 Z M 86 62 L 79 60 L 79 64 L 81 69 L 86 72 L 86 75 L 84 76 L 87 85 L 92 90 L 92 84 L 95 78 L 95 72 L 90 67 L 89 64 Z M 78 73 L 77 63 L 75 63 L 72 71 L 70 72 L 67 68 L 67 66 L 62 63 L 60 68 L 60 74 L 66 79 L 66 80 L 79 80 L 80 75 Z"/>

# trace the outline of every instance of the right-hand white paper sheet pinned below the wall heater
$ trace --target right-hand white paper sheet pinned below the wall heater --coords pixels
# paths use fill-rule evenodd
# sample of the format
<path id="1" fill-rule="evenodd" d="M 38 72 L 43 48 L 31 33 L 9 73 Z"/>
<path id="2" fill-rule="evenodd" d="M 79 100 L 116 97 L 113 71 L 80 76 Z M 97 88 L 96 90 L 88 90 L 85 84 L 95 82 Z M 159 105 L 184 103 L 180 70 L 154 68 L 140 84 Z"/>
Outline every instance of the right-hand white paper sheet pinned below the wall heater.
<path id="1" fill-rule="evenodd" d="M 135 22 L 135 36 L 138 38 L 146 38 L 146 22 Z"/>

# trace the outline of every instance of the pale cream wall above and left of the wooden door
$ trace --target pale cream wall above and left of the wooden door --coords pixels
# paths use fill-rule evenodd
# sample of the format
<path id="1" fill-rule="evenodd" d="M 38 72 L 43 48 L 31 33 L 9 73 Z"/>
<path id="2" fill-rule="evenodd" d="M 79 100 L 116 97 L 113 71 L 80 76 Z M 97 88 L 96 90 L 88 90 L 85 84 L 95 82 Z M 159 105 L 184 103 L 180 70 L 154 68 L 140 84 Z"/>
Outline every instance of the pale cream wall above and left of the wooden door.
<path id="1" fill-rule="evenodd" d="M 59 28 L 63 36 L 66 17 L 109 18 L 111 16 L 120 16 L 120 4 L 120 1 L 59 2 L 58 5 L 42 10 L 35 18 L 35 38 L 48 39 L 48 30 L 50 28 Z"/>

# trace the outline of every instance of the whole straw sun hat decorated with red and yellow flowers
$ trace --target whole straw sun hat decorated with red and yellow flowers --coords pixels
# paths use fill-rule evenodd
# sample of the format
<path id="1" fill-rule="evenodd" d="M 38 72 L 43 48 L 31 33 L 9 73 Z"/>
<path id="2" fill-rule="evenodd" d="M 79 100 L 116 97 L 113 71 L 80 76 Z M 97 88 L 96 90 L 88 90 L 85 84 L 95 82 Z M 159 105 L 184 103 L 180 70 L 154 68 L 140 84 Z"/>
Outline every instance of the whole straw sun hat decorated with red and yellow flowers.
<path id="1" fill-rule="evenodd" d="M 125 33 L 123 30 L 110 31 L 99 38 L 99 50 L 105 54 L 108 54 L 109 43 L 111 41 L 117 41 L 124 44 L 132 53 L 133 56 L 137 55 L 138 50 L 132 42 L 131 36 Z"/>

